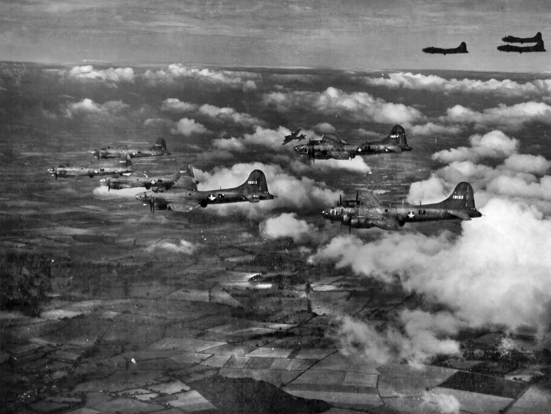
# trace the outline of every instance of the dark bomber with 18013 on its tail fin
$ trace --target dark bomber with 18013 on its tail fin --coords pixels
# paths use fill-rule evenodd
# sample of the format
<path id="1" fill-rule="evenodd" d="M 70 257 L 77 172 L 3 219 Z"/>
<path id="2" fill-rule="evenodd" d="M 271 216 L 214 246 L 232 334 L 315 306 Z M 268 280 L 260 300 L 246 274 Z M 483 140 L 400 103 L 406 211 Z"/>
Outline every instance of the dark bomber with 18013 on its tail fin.
<path id="1" fill-rule="evenodd" d="M 243 201 L 258 203 L 263 200 L 273 200 L 274 197 L 268 192 L 266 176 L 261 170 L 252 171 L 247 181 L 231 189 L 212 191 L 172 189 L 168 192 L 145 191 L 136 194 L 136 200 L 149 204 L 152 213 L 155 213 L 155 209 L 187 212 L 198 206 L 207 207 L 210 204 Z"/>

